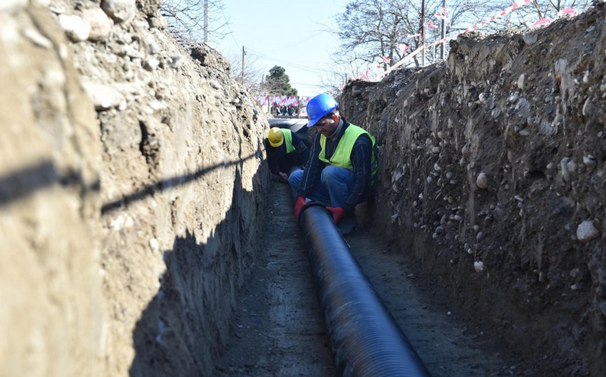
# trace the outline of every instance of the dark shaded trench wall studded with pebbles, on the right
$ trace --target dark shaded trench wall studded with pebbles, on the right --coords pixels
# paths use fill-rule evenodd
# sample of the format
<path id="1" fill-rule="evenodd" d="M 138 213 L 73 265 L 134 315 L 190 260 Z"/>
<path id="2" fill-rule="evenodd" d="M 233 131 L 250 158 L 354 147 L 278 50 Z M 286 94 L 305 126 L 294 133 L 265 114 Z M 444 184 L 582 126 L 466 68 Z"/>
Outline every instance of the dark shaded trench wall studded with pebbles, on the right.
<path id="1" fill-rule="evenodd" d="M 605 6 L 460 36 L 444 63 L 344 88 L 378 137 L 371 221 L 545 375 L 606 373 Z"/>

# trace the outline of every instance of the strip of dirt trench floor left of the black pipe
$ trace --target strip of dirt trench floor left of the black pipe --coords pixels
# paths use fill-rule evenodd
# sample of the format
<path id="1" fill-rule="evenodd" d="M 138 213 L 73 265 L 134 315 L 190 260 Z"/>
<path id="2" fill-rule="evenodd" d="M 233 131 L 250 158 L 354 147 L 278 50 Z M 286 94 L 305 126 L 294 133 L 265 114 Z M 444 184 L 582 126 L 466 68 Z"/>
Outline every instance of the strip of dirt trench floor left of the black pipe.
<path id="1" fill-rule="evenodd" d="M 272 181 L 257 265 L 237 303 L 217 376 L 331 376 L 322 312 L 288 184 Z"/>

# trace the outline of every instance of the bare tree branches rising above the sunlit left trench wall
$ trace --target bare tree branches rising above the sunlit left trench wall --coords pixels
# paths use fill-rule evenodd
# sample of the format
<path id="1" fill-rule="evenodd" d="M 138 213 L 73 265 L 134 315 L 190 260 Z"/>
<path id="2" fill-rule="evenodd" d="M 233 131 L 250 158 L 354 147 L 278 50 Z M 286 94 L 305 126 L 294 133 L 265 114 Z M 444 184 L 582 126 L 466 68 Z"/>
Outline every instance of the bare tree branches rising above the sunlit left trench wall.
<path id="1" fill-rule="evenodd" d="M 209 43 L 228 33 L 220 0 L 163 0 L 160 14 L 176 38 Z"/>

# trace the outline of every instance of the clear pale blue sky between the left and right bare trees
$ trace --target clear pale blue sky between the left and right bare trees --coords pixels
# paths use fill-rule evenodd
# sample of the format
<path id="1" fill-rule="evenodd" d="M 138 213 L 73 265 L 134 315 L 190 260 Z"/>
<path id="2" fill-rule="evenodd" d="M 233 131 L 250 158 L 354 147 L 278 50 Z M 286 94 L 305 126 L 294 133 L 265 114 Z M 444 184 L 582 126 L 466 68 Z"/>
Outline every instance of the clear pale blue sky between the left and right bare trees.
<path id="1" fill-rule="evenodd" d="M 224 0 L 223 14 L 229 35 L 209 44 L 222 55 L 252 62 L 257 71 L 269 75 L 274 65 L 284 68 L 299 96 L 324 91 L 339 40 L 337 14 L 349 0 Z M 218 22 L 219 20 L 217 20 Z M 246 71 L 245 71 L 246 74 Z M 260 80 L 260 79 L 259 79 Z"/>

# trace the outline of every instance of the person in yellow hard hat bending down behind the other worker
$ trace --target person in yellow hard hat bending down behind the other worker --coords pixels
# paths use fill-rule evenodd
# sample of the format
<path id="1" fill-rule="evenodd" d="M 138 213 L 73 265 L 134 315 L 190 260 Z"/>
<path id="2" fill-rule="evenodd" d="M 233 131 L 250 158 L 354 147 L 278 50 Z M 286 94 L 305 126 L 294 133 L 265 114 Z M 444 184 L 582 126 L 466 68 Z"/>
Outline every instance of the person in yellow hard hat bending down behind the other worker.
<path id="1" fill-rule="evenodd" d="M 263 140 L 269 170 L 279 181 L 287 183 L 293 171 L 303 169 L 309 159 L 309 148 L 290 129 L 272 127 Z"/>

